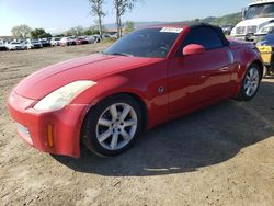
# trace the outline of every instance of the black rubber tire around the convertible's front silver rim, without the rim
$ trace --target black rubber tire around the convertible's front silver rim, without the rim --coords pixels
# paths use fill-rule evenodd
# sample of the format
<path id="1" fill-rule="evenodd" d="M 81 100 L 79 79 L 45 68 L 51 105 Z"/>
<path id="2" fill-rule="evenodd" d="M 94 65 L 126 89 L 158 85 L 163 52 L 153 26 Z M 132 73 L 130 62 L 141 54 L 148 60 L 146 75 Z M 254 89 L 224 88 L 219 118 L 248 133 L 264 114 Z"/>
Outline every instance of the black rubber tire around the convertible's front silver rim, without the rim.
<path id="1" fill-rule="evenodd" d="M 116 104 L 116 103 L 126 103 L 135 110 L 137 119 L 138 119 L 137 129 L 130 142 L 128 142 L 124 148 L 118 149 L 118 150 L 107 150 L 103 148 L 98 141 L 96 125 L 102 113 L 109 106 Z M 83 123 L 82 140 L 85 147 L 89 150 L 91 150 L 93 153 L 99 154 L 99 156 L 104 156 L 104 157 L 114 157 L 124 152 L 128 148 L 130 148 L 134 141 L 136 140 L 136 138 L 139 136 L 141 129 L 142 129 L 142 112 L 141 112 L 140 105 L 129 95 L 119 94 L 119 95 L 111 96 L 111 98 L 103 100 L 102 102 L 100 102 L 99 104 L 96 104 L 90 110 Z"/>

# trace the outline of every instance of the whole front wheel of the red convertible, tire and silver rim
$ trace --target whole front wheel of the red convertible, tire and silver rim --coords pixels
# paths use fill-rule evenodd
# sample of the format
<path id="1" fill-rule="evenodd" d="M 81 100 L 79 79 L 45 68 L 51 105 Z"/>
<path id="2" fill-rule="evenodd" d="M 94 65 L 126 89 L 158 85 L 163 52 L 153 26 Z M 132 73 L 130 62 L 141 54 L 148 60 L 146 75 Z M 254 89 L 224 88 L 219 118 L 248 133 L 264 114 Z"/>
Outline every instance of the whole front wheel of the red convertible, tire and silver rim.
<path id="1" fill-rule="evenodd" d="M 133 146 L 142 122 L 140 105 L 129 95 L 118 94 L 91 108 L 83 122 L 81 139 L 93 153 L 114 157 Z"/>

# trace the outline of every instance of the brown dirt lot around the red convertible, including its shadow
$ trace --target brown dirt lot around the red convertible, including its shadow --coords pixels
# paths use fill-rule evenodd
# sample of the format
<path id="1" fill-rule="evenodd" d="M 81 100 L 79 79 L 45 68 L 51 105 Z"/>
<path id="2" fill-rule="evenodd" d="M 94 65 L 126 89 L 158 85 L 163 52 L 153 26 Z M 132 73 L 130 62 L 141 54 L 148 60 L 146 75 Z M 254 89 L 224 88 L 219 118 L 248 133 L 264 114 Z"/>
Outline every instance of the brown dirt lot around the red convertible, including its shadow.
<path id="1" fill-rule="evenodd" d="M 274 79 L 253 101 L 164 124 L 116 158 L 53 157 L 24 144 L 7 112 L 9 91 L 39 68 L 103 47 L 0 53 L 1 205 L 274 205 Z"/>

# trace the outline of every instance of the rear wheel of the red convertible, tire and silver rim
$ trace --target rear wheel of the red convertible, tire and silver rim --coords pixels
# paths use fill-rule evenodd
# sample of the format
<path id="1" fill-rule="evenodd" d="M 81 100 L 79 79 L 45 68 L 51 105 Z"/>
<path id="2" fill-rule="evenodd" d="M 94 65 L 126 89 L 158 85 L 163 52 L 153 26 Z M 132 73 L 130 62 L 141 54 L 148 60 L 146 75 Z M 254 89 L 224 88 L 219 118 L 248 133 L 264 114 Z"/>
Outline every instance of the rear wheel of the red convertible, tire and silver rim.
<path id="1" fill-rule="evenodd" d="M 262 71 L 259 65 L 252 64 L 241 82 L 240 93 L 238 94 L 238 100 L 240 101 L 250 101 L 252 100 L 259 90 L 261 79 L 262 79 Z"/>

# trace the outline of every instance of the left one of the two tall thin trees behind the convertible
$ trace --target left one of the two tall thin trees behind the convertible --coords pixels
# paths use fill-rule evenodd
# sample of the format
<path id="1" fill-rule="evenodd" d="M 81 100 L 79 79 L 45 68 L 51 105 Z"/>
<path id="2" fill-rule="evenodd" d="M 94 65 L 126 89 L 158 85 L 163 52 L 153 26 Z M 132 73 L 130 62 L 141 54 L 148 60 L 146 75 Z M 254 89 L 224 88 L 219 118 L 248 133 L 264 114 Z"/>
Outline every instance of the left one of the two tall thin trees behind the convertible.
<path id="1" fill-rule="evenodd" d="M 106 15 L 106 13 L 103 12 L 103 7 L 102 7 L 104 3 L 104 0 L 89 0 L 89 1 L 91 3 L 91 14 L 98 18 L 95 23 L 98 24 L 98 27 L 99 27 L 99 34 L 102 37 L 103 35 L 102 22 L 103 22 L 103 18 Z"/>

